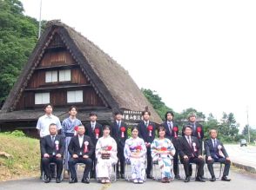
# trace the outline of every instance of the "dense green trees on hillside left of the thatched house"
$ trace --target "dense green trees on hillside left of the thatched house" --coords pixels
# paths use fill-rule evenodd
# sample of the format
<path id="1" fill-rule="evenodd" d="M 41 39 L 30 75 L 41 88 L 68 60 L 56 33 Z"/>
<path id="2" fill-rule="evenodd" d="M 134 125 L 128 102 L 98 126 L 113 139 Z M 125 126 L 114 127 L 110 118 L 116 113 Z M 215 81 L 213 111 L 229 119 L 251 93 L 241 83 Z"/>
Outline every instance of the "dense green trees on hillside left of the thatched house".
<path id="1" fill-rule="evenodd" d="M 0 1 L 0 102 L 6 99 L 37 43 L 37 20 L 18 0 Z"/>

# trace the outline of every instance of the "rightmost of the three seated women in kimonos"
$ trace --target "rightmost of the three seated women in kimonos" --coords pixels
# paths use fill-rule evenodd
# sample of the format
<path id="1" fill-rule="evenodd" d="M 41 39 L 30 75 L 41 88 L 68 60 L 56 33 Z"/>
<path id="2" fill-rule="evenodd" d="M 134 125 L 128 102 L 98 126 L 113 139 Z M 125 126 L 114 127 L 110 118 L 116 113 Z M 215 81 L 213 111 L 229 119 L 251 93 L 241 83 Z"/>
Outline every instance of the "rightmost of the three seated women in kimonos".
<path id="1" fill-rule="evenodd" d="M 172 159 L 175 154 L 175 148 L 172 141 L 165 138 L 165 128 L 158 128 L 158 139 L 152 141 L 152 161 L 158 161 L 158 167 L 161 170 L 161 181 L 169 183 L 172 180 Z"/>

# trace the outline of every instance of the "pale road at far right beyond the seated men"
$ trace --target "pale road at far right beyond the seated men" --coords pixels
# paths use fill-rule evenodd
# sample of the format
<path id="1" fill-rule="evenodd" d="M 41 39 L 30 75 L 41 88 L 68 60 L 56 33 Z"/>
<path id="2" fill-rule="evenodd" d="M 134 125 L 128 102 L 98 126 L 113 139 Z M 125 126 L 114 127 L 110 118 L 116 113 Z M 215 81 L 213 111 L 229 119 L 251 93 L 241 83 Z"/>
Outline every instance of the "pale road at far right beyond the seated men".
<path id="1" fill-rule="evenodd" d="M 255 146 L 240 147 L 239 145 L 225 145 L 225 147 L 233 162 L 256 168 Z"/>

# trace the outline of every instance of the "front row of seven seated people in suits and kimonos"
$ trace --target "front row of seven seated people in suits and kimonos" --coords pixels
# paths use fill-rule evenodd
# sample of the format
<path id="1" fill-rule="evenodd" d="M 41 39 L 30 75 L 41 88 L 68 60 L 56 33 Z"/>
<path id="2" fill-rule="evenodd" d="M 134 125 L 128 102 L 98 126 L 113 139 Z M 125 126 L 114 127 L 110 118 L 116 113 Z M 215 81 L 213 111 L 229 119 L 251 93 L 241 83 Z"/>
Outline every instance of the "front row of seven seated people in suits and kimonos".
<path id="1" fill-rule="evenodd" d="M 50 164 L 53 162 L 57 166 L 56 182 L 61 182 L 61 174 L 64 165 L 64 136 L 57 134 L 57 126 L 52 123 L 50 125 L 50 134 L 43 138 L 41 143 L 42 164 L 46 179 L 44 182 L 51 181 Z M 223 144 L 217 140 L 217 131 L 210 131 L 211 138 L 205 141 L 205 161 L 201 153 L 201 147 L 196 137 L 192 136 L 192 127 L 186 125 L 183 128 L 183 136 L 178 140 L 178 149 L 172 144 L 172 141 L 165 138 L 165 127 L 158 128 L 158 138 L 155 138 L 151 143 L 152 163 L 157 163 L 161 171 L 161 181 L 169 183 L 173 179 L 172 176 L 172 160 L 176 151 L 179 152 L 179 158 L 185 169 L 185 182 L 190 181 L 191 173 L 189 166 L 194 163 L 197 165 L 196 181 L 205 182 L 204 165 L 205 161 L 212 175 L 211 181 L 215 181 L 216 177 L 213 171 L 212 164 L 220 162 L 225 165 L 224 173 L 221 180 L 229 181 L 227 175 L 229 173 L 230 159 L 226 153 Z M 91 138 L 84 134 L 85 128 L 83 125 L 78 126 L 77 135 L 71 138 L 68 151 L 71 158 L 68 161 L 70 168 L 71 180 L 70 183 L 77 182 L 76 165 L 84 163 L 83 183 L 90 183 L 89 173 L 92 167 L 91 157 L 96 156 L 96 176 L 101 183 L 110 183 L 112 168 L 118 163 L 118 145 L 111 135 L 111 128 L 104 126 L 103 136 L 98 139 L 94 146 Z M 131 128 L 131 137 L 125 141 L 124 155 L 126 164 L 131 165 L 131 180 L 134 183 L 143 183 L 146 179 L 147 164 L 147 147 L 143 139 L 138 137 L 139 128 Z M 151 164 L 152 164 L 151 163 Z"/>

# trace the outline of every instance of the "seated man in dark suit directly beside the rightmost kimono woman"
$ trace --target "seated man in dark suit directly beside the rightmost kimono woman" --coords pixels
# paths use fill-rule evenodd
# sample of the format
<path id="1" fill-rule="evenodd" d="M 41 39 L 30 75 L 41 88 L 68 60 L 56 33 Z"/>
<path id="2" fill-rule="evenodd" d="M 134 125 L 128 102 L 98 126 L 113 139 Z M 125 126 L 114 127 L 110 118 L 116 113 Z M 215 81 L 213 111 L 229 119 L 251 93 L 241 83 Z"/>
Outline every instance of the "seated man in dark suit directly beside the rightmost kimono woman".
<path id="1" fill-rule="evenodd" d="M 179 158 L 185 169 L 185 182 L 190 181 L 189 166 L 195 163 L 198 166 L 196 181 L 205 182 L 203 177 L 205 161 L 201 154 L 201 147 L 196 137 L 192 136 L 192 127 L 185 125 L 182 128 L 184 136 L 179 138 Z"/>

